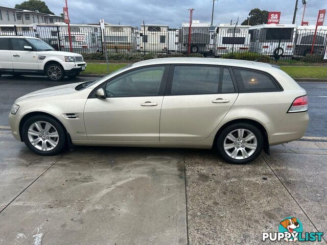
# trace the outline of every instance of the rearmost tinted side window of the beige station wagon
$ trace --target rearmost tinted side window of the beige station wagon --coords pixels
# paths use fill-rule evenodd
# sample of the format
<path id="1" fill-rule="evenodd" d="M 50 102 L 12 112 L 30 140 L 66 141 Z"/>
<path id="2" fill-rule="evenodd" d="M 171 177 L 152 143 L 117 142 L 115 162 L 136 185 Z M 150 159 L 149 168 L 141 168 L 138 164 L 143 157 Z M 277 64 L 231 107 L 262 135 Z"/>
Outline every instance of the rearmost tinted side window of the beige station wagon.
<path id="1" fill-rule="evenodd" d="M 279 91 L 272 78 L 262 72 L 233 69 L 240 92 L 270 92 Z"/>

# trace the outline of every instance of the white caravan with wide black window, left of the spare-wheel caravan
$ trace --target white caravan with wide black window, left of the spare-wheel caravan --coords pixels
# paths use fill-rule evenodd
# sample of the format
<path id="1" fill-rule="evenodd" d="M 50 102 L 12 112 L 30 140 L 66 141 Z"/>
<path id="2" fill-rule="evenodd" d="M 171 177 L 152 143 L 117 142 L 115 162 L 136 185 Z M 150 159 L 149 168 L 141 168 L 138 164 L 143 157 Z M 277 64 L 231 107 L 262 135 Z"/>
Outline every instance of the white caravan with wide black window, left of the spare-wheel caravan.
<path id="1" fill-rule="evenodd" d="M 221 57 L 228 53 L 248 52 L 250 47 L 250 26 L 219 24 L 216 27 L 214 55 Z"/>

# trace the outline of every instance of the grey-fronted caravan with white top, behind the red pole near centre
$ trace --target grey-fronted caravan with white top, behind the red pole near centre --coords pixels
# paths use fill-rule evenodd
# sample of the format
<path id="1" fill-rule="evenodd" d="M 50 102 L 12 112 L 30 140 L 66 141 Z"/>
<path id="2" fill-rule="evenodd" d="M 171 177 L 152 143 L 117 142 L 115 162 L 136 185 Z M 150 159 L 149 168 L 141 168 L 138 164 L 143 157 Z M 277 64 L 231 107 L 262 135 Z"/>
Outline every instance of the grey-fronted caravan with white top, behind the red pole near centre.
<path id="1" fill-rule="evenodd" d="M 188 53 L 189 49 L 189 28 L 190 23 L 182 23 L 179 29 L 178 51 Z M 191 53 L 208 54 L 211 50 L 211 33 L 209 30 L 210 23 L 193 20 L 191 26 Z"/>

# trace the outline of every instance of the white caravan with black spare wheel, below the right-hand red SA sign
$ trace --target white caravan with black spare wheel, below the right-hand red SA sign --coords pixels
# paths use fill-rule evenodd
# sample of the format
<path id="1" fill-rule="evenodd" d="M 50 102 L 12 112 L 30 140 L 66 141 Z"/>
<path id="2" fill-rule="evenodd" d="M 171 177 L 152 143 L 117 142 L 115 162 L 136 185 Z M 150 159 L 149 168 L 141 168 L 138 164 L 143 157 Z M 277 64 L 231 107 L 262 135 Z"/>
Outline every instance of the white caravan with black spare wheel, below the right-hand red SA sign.
<path id="1" fill-rule="evenodd" d="M 250 51 L 268 56 L 293 56 L 295 24 L 260 24 L 249 28 Z"/>

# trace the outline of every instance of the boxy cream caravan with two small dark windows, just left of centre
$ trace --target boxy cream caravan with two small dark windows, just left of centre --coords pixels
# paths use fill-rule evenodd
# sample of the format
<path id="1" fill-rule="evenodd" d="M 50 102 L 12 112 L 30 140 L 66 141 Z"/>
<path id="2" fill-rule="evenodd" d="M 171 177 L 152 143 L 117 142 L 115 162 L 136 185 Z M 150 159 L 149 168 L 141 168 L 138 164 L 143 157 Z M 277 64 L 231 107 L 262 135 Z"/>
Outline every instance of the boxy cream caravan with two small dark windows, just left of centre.
<path id="1" fill-rule="evenodd" d="M 141 52 L 168 52 L 168 26 L 167 24 L 141 24 L 139 31 Z"/>

